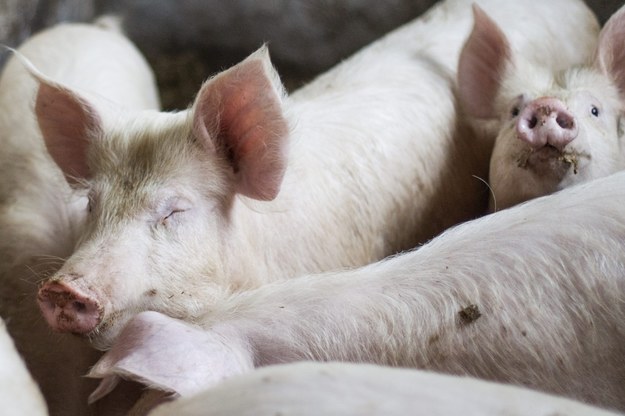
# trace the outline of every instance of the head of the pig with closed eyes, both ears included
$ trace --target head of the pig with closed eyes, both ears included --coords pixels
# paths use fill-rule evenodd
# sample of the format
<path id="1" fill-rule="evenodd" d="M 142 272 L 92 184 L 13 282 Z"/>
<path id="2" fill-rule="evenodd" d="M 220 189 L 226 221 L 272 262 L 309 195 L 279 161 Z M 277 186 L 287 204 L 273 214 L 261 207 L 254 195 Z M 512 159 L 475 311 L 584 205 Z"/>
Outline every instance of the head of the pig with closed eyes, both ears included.
<path id="1" fill-rule="evenodd" d="M 285 169 L 283 89 L 266 49 L 207 81 L 179 113 L 102 114 L 39 82 L 47 149 L 89 196 L 84 235 L 39 291 L 52 328 L 107 348 L 139 311 L 192 320 L 229 293 L 232 199 L 273 199 Z"/>

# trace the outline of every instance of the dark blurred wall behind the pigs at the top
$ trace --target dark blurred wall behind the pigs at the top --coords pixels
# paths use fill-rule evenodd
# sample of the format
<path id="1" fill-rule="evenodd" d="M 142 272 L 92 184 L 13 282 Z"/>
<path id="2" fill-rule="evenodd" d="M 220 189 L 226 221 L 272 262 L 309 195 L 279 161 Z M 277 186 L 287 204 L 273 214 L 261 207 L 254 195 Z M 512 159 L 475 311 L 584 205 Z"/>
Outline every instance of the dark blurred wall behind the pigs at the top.
<path id="1" fill-rule="evenodd" d="M 522 0 L 520 0 L 522 1 Z M 545 0 L 549 1 L 549 0 Z M 157 74 L 163 106 L 185 108 L 201 82 L 269 43 L 294 89 L 436 0 L 0 0 L 0 43 L 59 21 L 116 13 Z M 587 0 L 600 21 L 623 0 Z M 0 66 L 7 54 L 0 55 Z"/>

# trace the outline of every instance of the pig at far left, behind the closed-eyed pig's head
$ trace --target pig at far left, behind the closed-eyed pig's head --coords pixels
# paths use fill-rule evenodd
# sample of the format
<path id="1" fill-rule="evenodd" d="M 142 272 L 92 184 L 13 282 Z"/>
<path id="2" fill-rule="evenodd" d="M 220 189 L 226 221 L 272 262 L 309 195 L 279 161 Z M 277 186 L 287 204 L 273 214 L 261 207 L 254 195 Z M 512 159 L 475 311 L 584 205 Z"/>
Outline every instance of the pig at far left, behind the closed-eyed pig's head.
<path id="1" fill-rule="evenodd" d="M 46 150 L 34 113 L 38 82 L 20 59 L 82 91 L 102 112 L 110 102 L 157 110 L 154 75 L 112 17 L 46 29 L 20 46 L 18 54 L 0 76 L 0 316 L 51 415 L 124 414 L 136 400 L 128 389 L 108 403 L 87 406 L 97 384 L 82 376 L 100 353 L 82 339 L 53 333 L 37 305 L 38 283 L 74 249 L 87 198 L 70 188 Z"/>

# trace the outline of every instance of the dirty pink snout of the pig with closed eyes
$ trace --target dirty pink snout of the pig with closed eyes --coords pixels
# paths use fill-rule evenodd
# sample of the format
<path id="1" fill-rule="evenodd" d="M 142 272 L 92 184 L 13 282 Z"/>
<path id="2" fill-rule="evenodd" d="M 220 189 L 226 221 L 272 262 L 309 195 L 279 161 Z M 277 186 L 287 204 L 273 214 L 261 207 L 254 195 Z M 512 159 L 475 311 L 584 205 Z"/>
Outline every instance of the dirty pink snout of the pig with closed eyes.
<path id="1" fill-rule="evenodd" d="M 62 282 L 45 283 L 37 301 L 48 324 L 60 332 L 87 334 L 102 319 L 102 308 L 93 296 Z"/>

